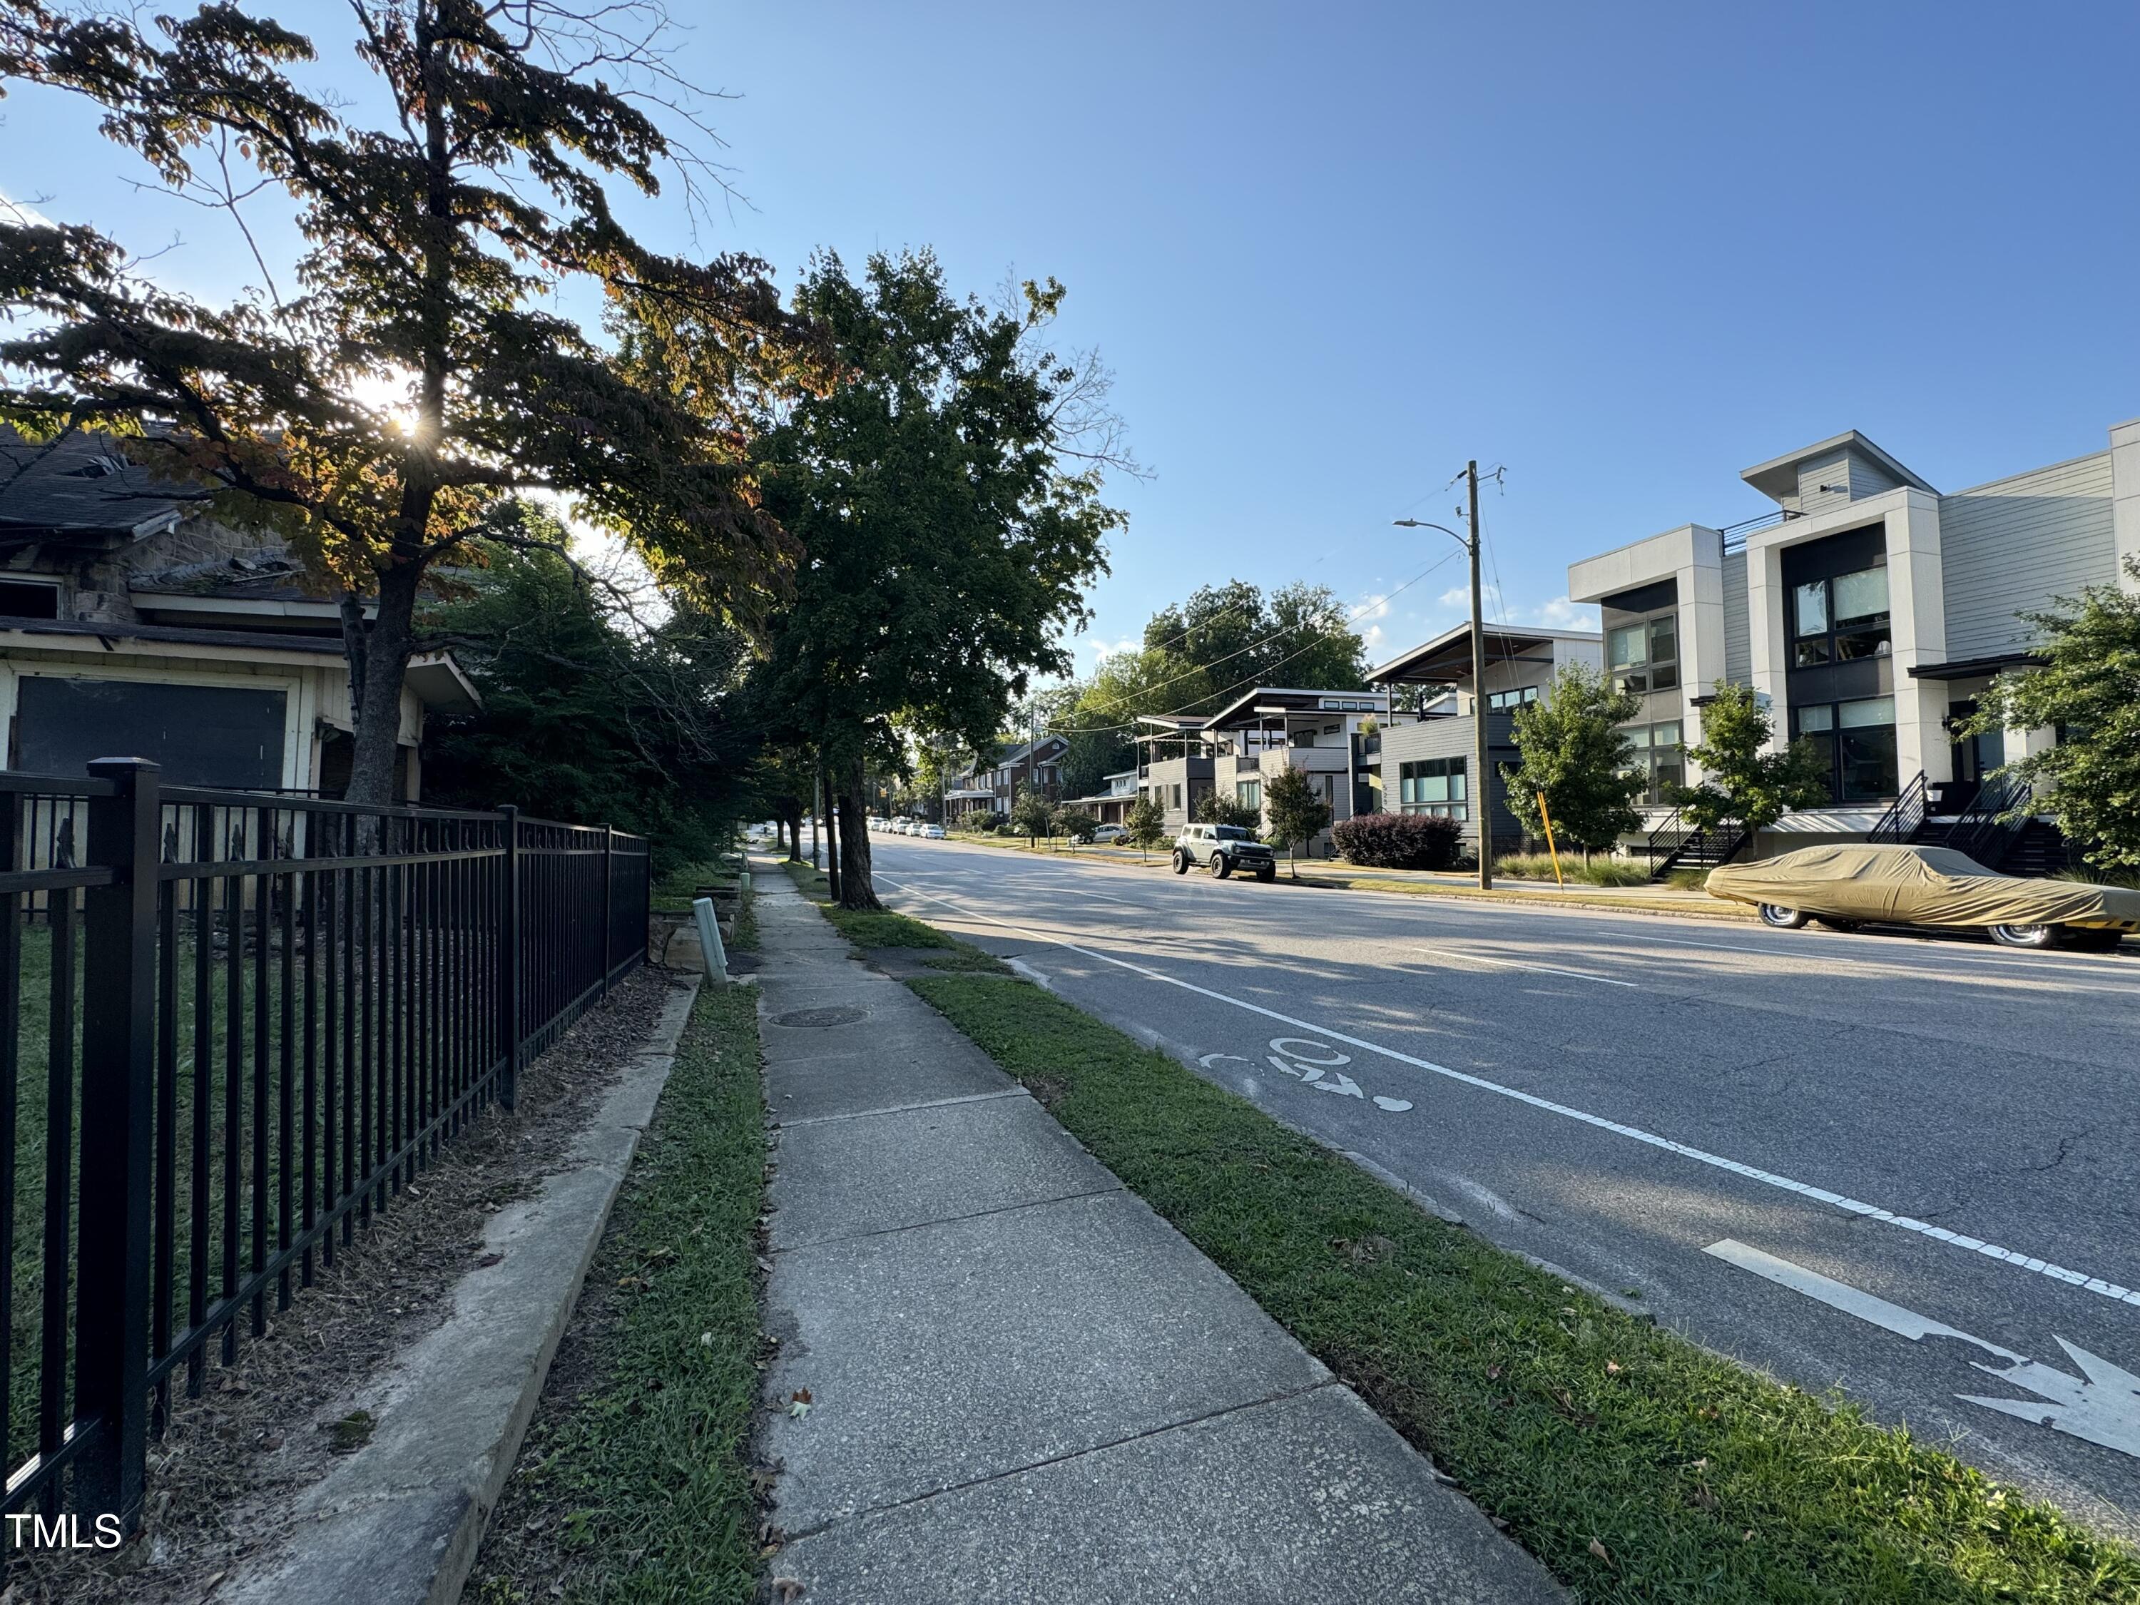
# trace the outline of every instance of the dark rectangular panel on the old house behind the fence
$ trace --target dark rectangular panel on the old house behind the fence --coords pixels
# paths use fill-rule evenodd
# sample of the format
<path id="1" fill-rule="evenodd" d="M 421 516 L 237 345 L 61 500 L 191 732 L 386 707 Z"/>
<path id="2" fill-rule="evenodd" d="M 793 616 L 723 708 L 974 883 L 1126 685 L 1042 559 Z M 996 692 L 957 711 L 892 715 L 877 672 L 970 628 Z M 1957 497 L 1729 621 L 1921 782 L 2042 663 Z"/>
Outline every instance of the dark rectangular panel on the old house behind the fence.
<path id="1" fill-rule="evenodd" d="M 94 758 L 152 758 L 165 785 L 282 783 L 282 691 L 45 674 L 15 685 L 11 768 L 81 775 Z"/>

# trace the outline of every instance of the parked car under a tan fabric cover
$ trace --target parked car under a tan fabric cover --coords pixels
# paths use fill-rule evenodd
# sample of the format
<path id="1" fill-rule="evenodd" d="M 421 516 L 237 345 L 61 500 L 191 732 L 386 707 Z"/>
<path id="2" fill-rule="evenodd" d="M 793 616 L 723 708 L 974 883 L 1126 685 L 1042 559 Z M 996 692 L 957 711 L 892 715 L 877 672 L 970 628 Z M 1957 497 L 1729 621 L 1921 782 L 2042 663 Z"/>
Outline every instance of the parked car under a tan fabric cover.
<path id="1" fill-rule="evenodd" d="M 2003 948 L 2108 952 L 2140 931 L 2140 892 L 2078 880 L 1997 875 L 1954 847 L 1855 843 L 1800 847 L 1710 871 L 1712 897 L 1753 903 L 1763 924 L 1795 931 L 1819 920 L 1986 931 Z"/>

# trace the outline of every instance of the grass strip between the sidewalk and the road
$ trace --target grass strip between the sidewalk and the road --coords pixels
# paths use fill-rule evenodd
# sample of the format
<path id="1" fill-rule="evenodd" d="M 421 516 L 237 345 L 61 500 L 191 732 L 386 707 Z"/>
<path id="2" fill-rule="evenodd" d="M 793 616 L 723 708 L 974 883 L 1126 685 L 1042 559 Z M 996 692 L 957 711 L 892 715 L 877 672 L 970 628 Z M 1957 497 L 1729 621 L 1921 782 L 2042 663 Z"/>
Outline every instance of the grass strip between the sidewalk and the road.
<path id="1" fill-rule="evenodd" d="M 2136 1601 L 2140 1556 L 1622 1314 L 1029 982 L 907 984 L 1584 1601 Z"/>

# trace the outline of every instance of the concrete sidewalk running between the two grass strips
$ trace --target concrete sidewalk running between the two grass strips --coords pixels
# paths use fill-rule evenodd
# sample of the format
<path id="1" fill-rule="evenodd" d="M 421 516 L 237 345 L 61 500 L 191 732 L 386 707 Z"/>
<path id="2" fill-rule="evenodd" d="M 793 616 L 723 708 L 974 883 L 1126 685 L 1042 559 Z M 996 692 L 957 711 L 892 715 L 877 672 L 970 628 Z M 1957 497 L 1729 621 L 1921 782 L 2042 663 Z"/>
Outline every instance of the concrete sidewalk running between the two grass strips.
<path id="1" fill-rule="evenodd" d="M 1560 1599 L 764 869 L 777 1579 L 813 1605 Z"/>

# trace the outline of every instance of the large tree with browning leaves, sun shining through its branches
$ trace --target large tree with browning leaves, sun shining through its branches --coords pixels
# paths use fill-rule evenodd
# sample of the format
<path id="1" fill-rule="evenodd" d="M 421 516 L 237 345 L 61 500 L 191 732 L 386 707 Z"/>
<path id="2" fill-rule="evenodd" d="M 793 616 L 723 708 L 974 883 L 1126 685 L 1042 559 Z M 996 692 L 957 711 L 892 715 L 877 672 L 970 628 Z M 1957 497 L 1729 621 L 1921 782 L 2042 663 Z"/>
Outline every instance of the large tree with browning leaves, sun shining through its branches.
<path id="1" fill-rule="evenodd" d="M 696 372 L 730 389 L 805 377 L 811 349 L 764 263 L 661 255 L 612 212 L 612 182 L 670 178 L 689 201 L 710 171 L 659 0 L 351 0 L 347 17 L 321 56 L 233 4 L 0 0 L 0 79 L 88 98 L 169 190 L 240 229 L 278 208 L 304 242 L 287 278 L 257 255 L 261 285 L 214 306 L 96 229 L 0 216 L 0 417 L 34 439 L 109 430 L 287 533 L 342 603 L 349 798 L 377 805 L 426 574 L 499 496 L 574 499 L 713 608 L 751 610 L 794 563 L 734 404 L 633 370 L 556 297 L 584 282 L 642 323 L 689 319 L 721 351 Z"/>

